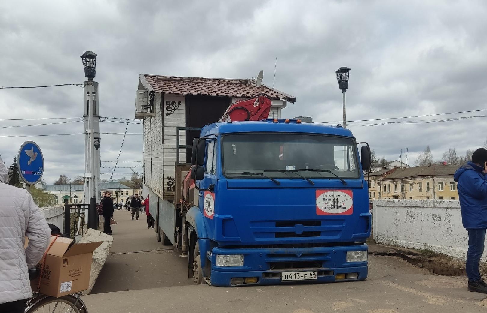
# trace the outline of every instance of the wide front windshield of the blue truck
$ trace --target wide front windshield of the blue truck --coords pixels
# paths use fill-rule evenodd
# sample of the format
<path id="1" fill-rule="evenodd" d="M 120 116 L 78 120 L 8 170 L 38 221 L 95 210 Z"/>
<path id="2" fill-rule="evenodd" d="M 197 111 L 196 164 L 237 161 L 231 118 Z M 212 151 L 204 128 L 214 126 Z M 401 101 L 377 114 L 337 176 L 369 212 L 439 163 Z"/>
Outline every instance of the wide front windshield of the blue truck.
<path id="1" fill-rule="evenodd" d="M 223 171 L 227 177 L 247 177 L 250 175 L 243 173 L 251 172 L 295 179 L 296 175 L 289 171 L 296 171 L 307 178 L 358 178 L 356 151 L 354 141 L 346 137 L 283 133 L 229 134 L 223 137 Z M 315 169 L 324 171 L 311 171 Z"/>

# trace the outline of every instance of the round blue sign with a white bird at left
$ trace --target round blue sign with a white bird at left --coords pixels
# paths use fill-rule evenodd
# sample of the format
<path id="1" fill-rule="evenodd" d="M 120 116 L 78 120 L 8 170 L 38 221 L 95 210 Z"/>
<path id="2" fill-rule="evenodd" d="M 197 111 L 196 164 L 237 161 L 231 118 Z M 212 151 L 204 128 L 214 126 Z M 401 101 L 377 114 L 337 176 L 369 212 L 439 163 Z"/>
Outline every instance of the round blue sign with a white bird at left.
<path id="1" fill-rule="evenodd" d="M 34 141 L 25 141 L 19 149 L 17 165 L 22 180 L 29 185 L 35 185 L 44 173 L 44 157 L 39 146 Z"/>

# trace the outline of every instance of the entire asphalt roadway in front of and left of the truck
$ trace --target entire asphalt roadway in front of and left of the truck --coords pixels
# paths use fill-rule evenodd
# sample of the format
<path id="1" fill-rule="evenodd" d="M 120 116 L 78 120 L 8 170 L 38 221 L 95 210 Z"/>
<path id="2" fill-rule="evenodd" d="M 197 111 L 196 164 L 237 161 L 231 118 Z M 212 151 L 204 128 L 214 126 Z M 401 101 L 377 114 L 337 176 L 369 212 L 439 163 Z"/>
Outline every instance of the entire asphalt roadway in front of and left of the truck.
<path id="1" fill-rule="evenodd" d="M 466 278 L 431 275 L 395 257 L 370 256 L 366 281 L 219 288 L 194 286 L 186 260 L 147 229 L 116 211 L 111 253 L 92 295 L 90 313 L 127 312 L 487 312 L 487 295 L 470 293 Z"/>

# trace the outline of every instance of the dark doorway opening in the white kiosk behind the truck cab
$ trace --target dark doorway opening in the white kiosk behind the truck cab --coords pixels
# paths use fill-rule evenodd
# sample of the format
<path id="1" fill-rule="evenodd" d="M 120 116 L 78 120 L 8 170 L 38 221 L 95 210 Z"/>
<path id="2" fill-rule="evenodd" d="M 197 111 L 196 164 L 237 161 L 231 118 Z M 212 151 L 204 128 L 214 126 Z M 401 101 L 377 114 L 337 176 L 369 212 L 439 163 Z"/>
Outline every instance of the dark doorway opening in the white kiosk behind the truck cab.
<path id="1" fill-rule="evenodd" d="M 230 105 L 229 97 L 186 96 L 186 127 L 203 127 L 217 122 Z M 186 144 L 200 137 L 199 130 L 186 131 Z M 186 162 L 191 163 L 191 149 L 186 150 Z"/>

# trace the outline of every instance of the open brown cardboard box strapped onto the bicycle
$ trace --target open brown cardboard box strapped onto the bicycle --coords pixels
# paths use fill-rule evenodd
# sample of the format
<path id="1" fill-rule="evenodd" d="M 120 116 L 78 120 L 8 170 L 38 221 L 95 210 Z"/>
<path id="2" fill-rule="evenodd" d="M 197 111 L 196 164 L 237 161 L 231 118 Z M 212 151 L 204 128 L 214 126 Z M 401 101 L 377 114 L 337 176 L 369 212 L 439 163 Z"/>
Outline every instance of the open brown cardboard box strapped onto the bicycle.
<path id="1" fill-rule="evenodd" d="M 71 238 L 57 237 L 43 264 L 40 292 L 60 297 L 88 289 L 93 251 L 102 243 L 73 244 Z"/>

